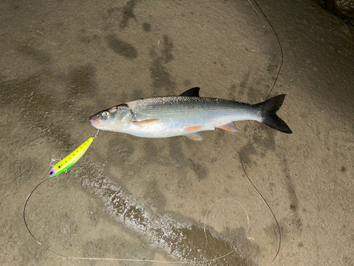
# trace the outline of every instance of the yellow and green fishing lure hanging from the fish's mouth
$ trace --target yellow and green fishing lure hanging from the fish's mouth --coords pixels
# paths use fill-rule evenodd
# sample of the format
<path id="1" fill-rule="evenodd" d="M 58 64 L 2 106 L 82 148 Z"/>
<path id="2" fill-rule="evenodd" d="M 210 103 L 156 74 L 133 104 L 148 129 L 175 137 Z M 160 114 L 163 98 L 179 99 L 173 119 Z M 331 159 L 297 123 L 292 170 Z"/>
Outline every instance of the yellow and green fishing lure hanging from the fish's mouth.
<path id="1" fill-rule="evenodd" d="M 52 169 L 49 171 L 50 177 L 55 177 L 58 174 L 62 174 L 62 172 L 67 171 L 70 167 L 72 167 L 81 157 L 86 153 L 86 150 L 90 147 L 93 139 L 98 136 L 98 132 L 93 137 L 86 140 L 84 143 L 79 145 L 79 147 L 74 150 L 72 153 L 64 157 L 63 160 L 58 162 Z"/>

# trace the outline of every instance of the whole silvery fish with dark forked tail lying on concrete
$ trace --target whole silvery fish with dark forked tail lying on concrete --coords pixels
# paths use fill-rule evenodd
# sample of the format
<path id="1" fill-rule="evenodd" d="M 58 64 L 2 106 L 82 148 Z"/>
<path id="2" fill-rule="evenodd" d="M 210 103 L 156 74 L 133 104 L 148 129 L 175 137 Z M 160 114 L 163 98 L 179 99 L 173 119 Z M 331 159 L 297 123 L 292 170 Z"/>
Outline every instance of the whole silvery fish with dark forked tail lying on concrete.
<path id="1" fill-rule="evenodd" d="M 285 94 L 259 104 L 199 96 L 199 87 L 178 96 L 160 96 L 130 101 L 96 113 L 91 125 L 142 138 L 169 138 L 184 135 L 202 140 L 200 131 L 222 128 L 236 132 L 234 121 L 255 120 L 282 133 L 292 133 L 276 114 Z"/>

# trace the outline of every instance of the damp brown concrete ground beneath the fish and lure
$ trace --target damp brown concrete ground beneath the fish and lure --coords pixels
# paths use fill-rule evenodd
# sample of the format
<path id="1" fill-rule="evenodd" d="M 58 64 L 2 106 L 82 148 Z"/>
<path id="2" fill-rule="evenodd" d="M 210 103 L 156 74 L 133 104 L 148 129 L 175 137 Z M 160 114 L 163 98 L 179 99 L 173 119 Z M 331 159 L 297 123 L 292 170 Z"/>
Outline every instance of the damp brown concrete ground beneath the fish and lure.
<path id="1" fill-rule="evenodd" d="M 268 265 L 277 222 L 241 160 L 280 225 L 272 265 L 354 265 L 354 28 L 309 0 L 259 3 L 292 135 L 256 121 L 201 142 L 101 132 L 33 192 L 43 246 L 28 233 L 28 194 L 96 133 L 94 113 L 191 87 L 268 96 L 281 56 L 261 12 L 191 3 L 1 1 L 1 265 Z"/>

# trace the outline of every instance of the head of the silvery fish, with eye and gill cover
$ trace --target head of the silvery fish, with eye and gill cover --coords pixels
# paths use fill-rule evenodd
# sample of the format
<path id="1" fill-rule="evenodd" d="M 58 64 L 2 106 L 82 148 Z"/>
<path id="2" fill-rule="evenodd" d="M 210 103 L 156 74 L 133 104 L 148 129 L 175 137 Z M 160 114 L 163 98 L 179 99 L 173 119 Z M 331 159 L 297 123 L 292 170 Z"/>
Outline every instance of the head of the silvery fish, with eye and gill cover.
<path id="1" fill-rule="evenodd" d="M 120 131 L 132 121 L 133 113 L 126 104 L 105 109 L 90 117 L 91 125 L 102 131 Z"/>

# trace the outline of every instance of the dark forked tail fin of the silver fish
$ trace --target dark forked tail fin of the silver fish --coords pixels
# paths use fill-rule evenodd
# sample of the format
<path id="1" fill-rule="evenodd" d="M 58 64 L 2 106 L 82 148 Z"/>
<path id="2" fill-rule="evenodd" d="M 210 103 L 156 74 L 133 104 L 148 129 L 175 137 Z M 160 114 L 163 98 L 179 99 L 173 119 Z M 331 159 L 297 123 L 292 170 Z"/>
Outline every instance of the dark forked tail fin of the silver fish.
<path id="1" fill-rule="evenodd" d="M 291 129 L 276 114 L 276 112 L 280 109 L 280 106 L 282 106 L 282 101 L 284 101 L 284 98 L 285 94 L 280 94 L 268 99 L 267 101 L 256 104 L 256 106 L 261 106 L 262 123 L 282 133 L 290 134 L 292 133 Z"/>

